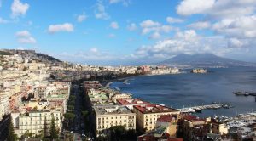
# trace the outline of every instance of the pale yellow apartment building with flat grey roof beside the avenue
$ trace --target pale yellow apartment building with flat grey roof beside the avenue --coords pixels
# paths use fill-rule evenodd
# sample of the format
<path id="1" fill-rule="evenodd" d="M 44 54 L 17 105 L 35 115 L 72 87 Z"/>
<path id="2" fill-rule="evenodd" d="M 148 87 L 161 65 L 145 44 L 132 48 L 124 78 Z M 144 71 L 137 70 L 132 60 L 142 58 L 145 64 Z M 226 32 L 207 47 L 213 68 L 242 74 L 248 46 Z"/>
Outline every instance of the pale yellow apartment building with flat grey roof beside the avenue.
<path id="1" fill-rule="evenodd" d="M 108 133 L 113 126 L 136 129 L 136 114 L 125 106 L 108 105 L 93 107 L 93 121 L 96 135 Z"/>

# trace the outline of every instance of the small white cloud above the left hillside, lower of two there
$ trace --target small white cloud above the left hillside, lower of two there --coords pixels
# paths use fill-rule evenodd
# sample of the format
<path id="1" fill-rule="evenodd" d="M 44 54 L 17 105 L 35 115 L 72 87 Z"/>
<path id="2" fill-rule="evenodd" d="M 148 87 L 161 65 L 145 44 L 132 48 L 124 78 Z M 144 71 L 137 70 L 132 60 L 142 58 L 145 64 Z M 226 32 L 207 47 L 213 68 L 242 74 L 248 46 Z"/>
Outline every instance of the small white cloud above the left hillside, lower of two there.
<path id="1" fill-rule="evenodd" d="M 36 43 L 36 39 L 32 37 L 29 31 L 17 31 L 15 37 L 19 43 Z"/>

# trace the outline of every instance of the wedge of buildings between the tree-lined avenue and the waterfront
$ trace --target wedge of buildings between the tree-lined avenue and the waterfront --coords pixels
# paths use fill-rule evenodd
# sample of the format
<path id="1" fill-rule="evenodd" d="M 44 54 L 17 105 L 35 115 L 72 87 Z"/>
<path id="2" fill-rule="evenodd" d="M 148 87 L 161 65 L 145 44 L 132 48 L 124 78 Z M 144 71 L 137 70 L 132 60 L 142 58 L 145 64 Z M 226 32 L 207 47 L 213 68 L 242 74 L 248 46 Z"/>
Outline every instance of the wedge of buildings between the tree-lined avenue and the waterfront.
<path id="1" fill-rule="evenodd" d="M 130 93 L 102 87 L 97 81 L 85 81 L 84 92 L 96 137 L 107 136 L 114 126 L 144 133 L 137 137 L 140 141 L 215 139 L 229 130 L 223 122 L 132 98 Z"/>

